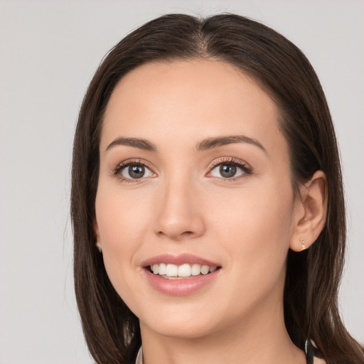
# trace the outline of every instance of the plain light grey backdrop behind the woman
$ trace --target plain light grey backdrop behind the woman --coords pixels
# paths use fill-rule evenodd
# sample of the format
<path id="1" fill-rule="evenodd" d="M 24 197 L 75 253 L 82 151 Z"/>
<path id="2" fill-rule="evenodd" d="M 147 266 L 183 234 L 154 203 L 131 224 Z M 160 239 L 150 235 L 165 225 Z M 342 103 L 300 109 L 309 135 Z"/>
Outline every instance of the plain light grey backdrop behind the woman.
<path id="1" fill-rule="evenodd" d="M 77 112 L 97 65 L 161 14 L 236 12 L 306 53 L 341 146 L 348 255 L 340 294 L 364 343 L 364 2 L 0 0 L 0 363 L 92 363 L 75 305 L 70 164 Z"/>

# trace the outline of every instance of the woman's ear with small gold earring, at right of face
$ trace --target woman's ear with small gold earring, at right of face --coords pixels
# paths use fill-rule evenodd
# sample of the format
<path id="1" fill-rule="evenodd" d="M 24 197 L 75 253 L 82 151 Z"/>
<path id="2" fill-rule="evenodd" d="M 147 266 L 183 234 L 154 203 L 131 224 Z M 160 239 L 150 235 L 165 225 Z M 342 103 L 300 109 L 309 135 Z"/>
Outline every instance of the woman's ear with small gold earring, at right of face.
<path id="1" fill-rule="evenodd" d="M 311 247 L 326 223 L 327 180 L 323 171 L 301 186 L 301 200 L 297 199 L 294 211 L 294 226 L 289 247 L 295 252 Z"/>

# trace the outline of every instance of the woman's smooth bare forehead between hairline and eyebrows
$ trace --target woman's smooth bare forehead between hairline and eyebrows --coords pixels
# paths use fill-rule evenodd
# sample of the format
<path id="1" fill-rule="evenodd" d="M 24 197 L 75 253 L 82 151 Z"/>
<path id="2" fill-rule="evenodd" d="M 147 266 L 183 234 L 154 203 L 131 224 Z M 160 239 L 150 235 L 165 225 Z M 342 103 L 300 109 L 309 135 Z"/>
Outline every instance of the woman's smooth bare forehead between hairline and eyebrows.
<path id="1" fill-rule="evenodd" d="M 269 147 L 274 139 L 282 143 L 278 114 L 267 92 L 228 63 L 147 63 L 125 75 L 112 92 L 101 148 L 119 135 L 173 140 L 176 146 L 232 134 L 259 137 Z"/>

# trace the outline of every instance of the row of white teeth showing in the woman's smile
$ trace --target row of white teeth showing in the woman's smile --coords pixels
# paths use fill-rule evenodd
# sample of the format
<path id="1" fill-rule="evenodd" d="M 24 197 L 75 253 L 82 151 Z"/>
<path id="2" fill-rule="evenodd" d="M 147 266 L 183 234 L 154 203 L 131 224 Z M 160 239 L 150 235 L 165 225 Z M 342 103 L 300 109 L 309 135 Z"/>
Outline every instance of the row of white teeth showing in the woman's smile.
<path id="1" fill-rule="evenodd" d="M 200 274 L 208 274 L 215 272 L 218 267 L 209 267 L 208 265 L 200 264 L 153 264 L 151 266 L 151 271 L 154 274 L 159 274 L 160 276 L 168 279 L 176 279 L 176 277 L 191 277 L 198 276 Z"/>

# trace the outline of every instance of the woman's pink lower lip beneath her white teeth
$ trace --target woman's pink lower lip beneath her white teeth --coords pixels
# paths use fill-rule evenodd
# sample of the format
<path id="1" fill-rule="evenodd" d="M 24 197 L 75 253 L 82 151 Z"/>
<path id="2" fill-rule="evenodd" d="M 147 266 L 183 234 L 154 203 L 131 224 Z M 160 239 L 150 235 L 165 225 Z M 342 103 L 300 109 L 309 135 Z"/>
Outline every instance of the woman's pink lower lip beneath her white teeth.
<path id="1" fill-rule="evenodd" d="M 144 269 L 144 272 L 146 273 L 146 279 L 148 279 L 151 287 L 157 291 L 170 296 L 186 296 L 187 294 L 193 294 L 213 282 L 213 280 L 218 277 L 220 270 L 221 269 L 217 269 L 215 272 L 209 274 L 200 274 L 185 279 L 162 278 L 158 274 L 149 272 L 147 269 Z"/>

